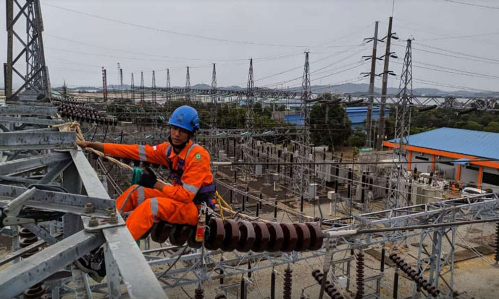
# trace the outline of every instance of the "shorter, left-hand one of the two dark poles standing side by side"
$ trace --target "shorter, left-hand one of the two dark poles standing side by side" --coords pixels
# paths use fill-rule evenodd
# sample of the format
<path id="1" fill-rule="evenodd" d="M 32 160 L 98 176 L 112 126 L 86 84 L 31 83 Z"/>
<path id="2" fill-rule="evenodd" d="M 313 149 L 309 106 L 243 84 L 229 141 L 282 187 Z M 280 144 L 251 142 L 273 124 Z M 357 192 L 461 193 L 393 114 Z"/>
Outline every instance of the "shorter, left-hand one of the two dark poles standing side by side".
<path id="1" fill-rule="evenodd" d="M 378 40 L 378 24 L 376 21 L 374 26 L 374 36 L 372 38 L 366 38 L 364 41 L 366 43 L 373 42 L 373 54 L 370 56 L 363 56 L 365 60 L 371 59 L 371 71 L 369 73 L 361 73 L 364 77 L 369 76 L 369 106 L 367 108 L 367 117 L 366 117 L 366 147 L 374 146 L 373 140 L 373 103 L 374 103 L 374 83 L 376 76 L 376 60 L 381 60 L 381 58 L 376 57 L 376 51 L 378 47 L 378 42 L 383 42 L 382 40 Z"/>

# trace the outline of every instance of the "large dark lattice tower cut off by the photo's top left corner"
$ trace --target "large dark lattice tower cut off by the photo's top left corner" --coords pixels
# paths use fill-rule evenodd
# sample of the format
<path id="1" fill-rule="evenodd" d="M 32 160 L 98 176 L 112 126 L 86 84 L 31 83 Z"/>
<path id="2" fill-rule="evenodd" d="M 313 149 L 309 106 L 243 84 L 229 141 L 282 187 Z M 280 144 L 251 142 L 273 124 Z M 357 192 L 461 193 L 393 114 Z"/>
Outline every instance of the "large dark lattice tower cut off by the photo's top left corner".
<path id="1" fill-rule="evenodd" d="M 7 100 L 11 100 L 13 97 L 17 97 L 23 90 L 31 90 L 50 98 L 51 88 L 49 71 L 45 65 L 40 0 L 7 0 L 6 2 L 7 63 L 4 64 L 6 98 Z M 16 15 L 14 15 L 15 11 Z M 16 26 L 18 24 L 20 24 L 22 29 Z M 16 29 L 20 29 L 20 31 Z M 26 32 L 26 40 L 22 39 L 24 32 Z M 16 47 L 14 47 L 14 44 L 16 44 Z M 15 49 L 20 50 L 14 53 Z M 20 58 L 22 57 L 25 57 L 24 65 L 21 63 L 22 60 Z M 24 74 L 22 73 L 23 68 L 26 68 Z M 19 78 L 16 78 L 21 80 L 22 83 L 16 92 L 13 92 L 12 89 L 13 72 L 18 75 Z"/>

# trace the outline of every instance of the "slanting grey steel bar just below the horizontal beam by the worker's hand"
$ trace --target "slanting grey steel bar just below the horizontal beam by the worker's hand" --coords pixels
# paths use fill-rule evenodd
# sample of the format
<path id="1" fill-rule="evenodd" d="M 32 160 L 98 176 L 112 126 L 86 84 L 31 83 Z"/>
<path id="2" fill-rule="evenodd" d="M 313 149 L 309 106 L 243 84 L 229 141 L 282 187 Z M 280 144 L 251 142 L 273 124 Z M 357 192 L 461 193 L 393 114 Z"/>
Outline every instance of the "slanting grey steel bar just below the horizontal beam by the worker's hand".
<path id="1" fill-rule="evenodd" d="M 1 134 L 0 134 L 1 135 Z M 29 157 L 0 163 L 0 175 L 19 174 L 35 167 L 44 167 L 56 162 L 70 159 L 66 153 L 52 153 L 37 157 Z"/>

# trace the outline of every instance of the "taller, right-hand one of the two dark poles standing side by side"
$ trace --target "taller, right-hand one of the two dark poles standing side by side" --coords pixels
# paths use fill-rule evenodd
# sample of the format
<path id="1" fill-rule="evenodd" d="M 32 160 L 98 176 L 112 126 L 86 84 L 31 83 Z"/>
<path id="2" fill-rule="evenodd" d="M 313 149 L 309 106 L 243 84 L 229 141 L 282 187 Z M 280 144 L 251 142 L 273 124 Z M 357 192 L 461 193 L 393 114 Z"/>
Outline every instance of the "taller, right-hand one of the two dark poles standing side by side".
<path id="1" fill-rule="evenodd" d="M 388 70 L 388 65 L 390 62 L 390 57 L 397 58 L 395 52 L 390 52 L 390 45 L 392 39 L 397 40 L 398 37 L 396 33 L 392 33 L 392 20 L 393 17 L 390 17 L 388 22 L 388 34 L 382 40 L 386 39 L 386 49 L 385 55 L 381 56 L 381 58 L 385 59 L 385 65 L 383 67 L 383 85 L 381 87 L 381 105 L 380 105 L 380 117 L 378 121 L 378 139 L 376 140 L 376 150 L 381 151 L 383 145 L 383 138 L 385 136 L 385 103 L 386 103 L 386 93 L 387 93 L 387 84 L 388 84 L 388 75 L 395 76 L 395 73 Z"/>

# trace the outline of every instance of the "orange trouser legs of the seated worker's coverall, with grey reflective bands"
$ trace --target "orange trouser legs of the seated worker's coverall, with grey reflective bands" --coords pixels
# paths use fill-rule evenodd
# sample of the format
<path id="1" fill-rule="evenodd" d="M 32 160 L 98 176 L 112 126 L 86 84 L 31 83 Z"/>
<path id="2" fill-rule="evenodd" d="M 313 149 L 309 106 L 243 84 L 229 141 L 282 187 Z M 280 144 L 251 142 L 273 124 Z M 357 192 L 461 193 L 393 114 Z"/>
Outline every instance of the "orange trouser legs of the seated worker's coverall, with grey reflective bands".
<path id="1" fill-rule="evenodd" d="M 136 186 L 136 185 L 134 185 Z M 128 188 L 116 199 L 116 207 L 121 207 L 126 196 L 134 186 Z M 145 199 L 142 203 L 141 192 Z M 133 211 L 132 211 L 133 210 Z M 130 194 L 123 212 L 132 213 L 126 219 L 126 227 L 135 240 L 138 240 L 151 227 L 154 221 L 166 221 L 169 223 L 196 225 L 198 223 L 198 208 L 193 202 L 183 203 L 164 197 L 164 194 L 156 189 L 139 187 Z"/>

